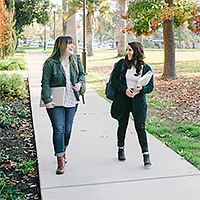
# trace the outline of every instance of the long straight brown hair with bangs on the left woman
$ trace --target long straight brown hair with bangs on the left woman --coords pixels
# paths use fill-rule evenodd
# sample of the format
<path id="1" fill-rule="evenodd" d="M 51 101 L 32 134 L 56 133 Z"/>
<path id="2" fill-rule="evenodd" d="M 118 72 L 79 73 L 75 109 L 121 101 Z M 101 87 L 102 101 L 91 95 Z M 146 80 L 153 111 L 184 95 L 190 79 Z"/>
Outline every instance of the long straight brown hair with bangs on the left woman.
<path id="1" fill-rule="evenodd" d="M 53 52 L 50 55 L 50 58 L 61 59 L 66 53 L 67 44 L 73 43 L 74 40 L 71 36 L 59 36 L 53 47 Z"/>

